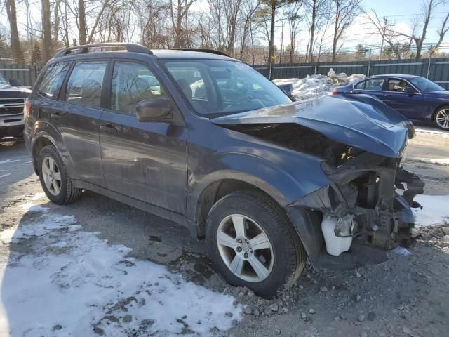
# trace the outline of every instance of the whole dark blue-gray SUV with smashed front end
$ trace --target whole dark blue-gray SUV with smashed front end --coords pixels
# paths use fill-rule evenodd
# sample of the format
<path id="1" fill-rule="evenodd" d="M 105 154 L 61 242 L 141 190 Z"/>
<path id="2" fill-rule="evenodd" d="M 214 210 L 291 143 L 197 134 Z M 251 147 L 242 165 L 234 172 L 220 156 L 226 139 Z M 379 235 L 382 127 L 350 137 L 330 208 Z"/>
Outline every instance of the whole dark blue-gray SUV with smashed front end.
<path id="1" fill-rule="evenodd" d="M 407 242 L 424 186 L 401 168 L 413 131 L 370 96 L 292 103 L 227 55 L 136 44 L 60 51 L 25 106 L 48 199 L 92 190 L 182 223 L 230 284 L 265 297 L 307 257 L 349 269 Z"/>

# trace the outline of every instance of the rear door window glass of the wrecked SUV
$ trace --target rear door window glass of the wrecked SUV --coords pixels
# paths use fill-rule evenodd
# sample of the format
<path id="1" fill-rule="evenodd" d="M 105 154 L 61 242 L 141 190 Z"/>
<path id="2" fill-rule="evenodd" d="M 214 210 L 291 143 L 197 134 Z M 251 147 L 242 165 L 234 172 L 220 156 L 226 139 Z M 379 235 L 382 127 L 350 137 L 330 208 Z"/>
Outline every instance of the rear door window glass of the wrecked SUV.
<path id="1" fill-rule="evenodd" d="M 88 61 L 75 64 L 67 81 L 67 102 L 86 107 L 100 107 L 106 61 Z"/>

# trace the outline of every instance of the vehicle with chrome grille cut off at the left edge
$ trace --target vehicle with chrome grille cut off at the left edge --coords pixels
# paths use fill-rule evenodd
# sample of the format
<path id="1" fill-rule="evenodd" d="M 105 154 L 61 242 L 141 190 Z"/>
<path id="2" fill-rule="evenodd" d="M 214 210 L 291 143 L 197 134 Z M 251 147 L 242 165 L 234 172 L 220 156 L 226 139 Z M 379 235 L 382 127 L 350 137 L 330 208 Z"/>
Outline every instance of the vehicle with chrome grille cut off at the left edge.
<path id="1" fill-rule="evenodd" d="M 6 81 L 0 74 L 0 141 L 22 136 L 23 107 L 29 93 L 31 90 L 21 88 L 18 79 Z"/>

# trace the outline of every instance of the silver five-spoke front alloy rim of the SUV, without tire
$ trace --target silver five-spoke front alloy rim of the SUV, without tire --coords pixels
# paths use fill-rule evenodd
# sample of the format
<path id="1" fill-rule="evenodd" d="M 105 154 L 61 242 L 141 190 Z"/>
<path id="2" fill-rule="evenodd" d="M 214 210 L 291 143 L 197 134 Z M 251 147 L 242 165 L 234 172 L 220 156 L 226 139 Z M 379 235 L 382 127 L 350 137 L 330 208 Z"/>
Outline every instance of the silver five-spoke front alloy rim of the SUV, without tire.
<path id="1" fill-rule="evenodd" d="M 272 244 L 262 227 L 247 216 L 224 218 L 218 226 L 217 246 L 229 270 L 246 282 L 262 282 L 272 272 Z"/>

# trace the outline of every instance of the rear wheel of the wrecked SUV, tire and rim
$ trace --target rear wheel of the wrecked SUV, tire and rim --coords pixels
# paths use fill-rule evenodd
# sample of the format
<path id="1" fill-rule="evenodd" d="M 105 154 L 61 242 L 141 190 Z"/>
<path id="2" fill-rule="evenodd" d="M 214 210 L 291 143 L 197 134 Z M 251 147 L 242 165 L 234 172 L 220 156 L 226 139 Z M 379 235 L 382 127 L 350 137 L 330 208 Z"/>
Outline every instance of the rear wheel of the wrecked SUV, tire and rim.
<path id="1" fill-rule="evenodd" d="M 47 167 L 52 166 L 51 178 L 49 178 L 49 173 L 44 172 L 44 161 Z M 53 145 L 43 147 L 41 152 L 39 152 L 38 169 L 43 192 L 54 204 L 71 204 L 81 197 L 82 190 L 74 187 L 72 184 L 72 180 L 67 174 L 67 169 Z M 53 180 L 53 186 L 48 187 L 48 180 Z"/>

